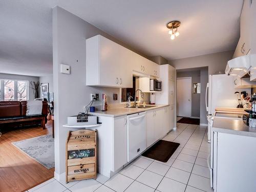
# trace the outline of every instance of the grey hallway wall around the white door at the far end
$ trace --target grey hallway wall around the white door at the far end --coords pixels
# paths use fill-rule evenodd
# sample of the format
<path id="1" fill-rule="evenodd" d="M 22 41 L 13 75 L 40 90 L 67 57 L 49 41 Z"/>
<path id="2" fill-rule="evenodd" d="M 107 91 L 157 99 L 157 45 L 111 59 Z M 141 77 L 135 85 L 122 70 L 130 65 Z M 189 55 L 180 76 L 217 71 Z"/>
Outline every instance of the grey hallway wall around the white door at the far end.
<path id="1" fill-rule="evenodd" d="M 193 88 L 193 83 L 200 82 L 200 70 L 198 71 L 186 71 L 179 72 L 177 71 L 177 78 L 179 77 L 192 77 L 191 87 Z M 179 89 L 179 88 L 177 88 Z M 191 92 L 191 116 L 200 117 L 200 95 Z"/>

